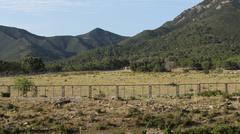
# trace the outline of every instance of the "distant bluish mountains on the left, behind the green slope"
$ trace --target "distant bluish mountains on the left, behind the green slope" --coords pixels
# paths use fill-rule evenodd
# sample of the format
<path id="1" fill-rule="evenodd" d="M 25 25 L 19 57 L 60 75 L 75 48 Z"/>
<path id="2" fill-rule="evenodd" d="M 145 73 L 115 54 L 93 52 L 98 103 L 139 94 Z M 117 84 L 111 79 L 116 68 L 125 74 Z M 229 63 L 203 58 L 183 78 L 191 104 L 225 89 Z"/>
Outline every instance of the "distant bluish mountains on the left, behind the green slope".
<path id="1" fill-rule="evenodd" d="M 0 26 L 0 59 L 17 61 L 32 54 L 44 61 L 54 61 L 86 50 L 111 46 L 126 38 L 100 28 L 78 36 L 43 37 L 23 29 Z"/>

